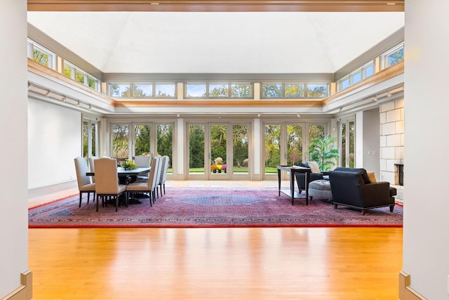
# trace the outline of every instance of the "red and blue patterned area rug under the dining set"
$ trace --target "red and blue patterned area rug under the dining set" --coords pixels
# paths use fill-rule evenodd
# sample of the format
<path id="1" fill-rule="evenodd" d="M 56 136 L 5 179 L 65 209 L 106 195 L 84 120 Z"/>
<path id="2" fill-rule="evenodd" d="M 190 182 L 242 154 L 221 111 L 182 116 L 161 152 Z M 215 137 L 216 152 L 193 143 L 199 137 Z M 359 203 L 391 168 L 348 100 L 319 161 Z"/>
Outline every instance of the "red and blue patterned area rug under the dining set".
<path id="1" fill-rule="evenodd" d="M 83 195 L 44 204 L 29 209 L 29 228 L 60 227 L 263 227 L 263 226 L 373 226 L 401 227 L 403 207 L 396 205 L 370 209 L 365 216 L 360 210 L 339 206 L 329 200 L 314 198 L 295 200 L 278 195 L 277 188 L 168 188 L 150 207 L 142 195 L 140 204 L 113 204 L 99 207 L 87 204 Z"/>

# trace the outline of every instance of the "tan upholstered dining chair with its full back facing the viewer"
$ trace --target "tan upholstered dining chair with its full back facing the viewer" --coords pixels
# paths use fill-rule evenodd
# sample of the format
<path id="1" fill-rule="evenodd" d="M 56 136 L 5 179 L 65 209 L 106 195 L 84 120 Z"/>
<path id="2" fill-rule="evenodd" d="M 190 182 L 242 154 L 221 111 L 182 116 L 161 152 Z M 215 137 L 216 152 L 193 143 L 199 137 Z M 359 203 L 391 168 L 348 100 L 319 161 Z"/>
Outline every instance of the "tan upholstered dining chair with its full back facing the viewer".
<path id="1" fill-rule="evenodd" d="M 115 211 L 117 211 L 119 207 L 119 196 L 126 193 L 126 185 L 119 184 L 116 159 L 106 157 L 98 158 L 95 159 L 94 165 L 97 211 L 98 197 L 101 197 L 102 207 L 107 206 L 106 197 L 113 197 L 115 199 Z"/>

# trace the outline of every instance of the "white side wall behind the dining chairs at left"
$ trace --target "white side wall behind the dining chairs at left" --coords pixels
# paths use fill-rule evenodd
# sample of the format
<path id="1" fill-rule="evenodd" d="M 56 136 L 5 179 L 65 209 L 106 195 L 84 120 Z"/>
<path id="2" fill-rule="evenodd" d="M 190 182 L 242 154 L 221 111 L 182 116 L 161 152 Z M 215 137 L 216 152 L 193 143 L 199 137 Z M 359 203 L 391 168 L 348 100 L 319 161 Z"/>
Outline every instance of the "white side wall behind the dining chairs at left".
<path id="1" fill-rule="evenodd" d="M 74 158 L 81 156 L 81 122 L 81 112 L 29 98 L 30 190 L 76 181 Z"/>

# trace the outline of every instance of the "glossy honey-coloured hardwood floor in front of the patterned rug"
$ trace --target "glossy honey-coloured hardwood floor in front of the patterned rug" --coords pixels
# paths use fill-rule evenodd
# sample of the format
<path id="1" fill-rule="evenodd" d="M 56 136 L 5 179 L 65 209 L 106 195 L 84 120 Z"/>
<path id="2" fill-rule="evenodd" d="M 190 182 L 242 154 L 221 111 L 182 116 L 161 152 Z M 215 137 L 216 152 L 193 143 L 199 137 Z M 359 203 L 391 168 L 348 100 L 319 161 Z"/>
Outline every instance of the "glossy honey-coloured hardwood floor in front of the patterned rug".
<path id="1" fill-rule="evenodd" d="M 398 299 L 402 228 L 29 229 L 35 300 Z"/>

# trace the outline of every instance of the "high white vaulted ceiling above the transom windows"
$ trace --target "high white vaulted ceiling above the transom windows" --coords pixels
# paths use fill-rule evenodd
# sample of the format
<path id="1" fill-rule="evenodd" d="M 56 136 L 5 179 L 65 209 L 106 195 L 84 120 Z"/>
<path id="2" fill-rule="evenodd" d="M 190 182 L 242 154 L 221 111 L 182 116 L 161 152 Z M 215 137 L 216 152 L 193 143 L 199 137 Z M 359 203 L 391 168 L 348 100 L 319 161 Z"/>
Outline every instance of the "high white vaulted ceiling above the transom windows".
<path id="1" fill-rule="evenodd" d="M 334 73 L 404 26 L 403 12 L 28 12 L 105 73 Z"/>

